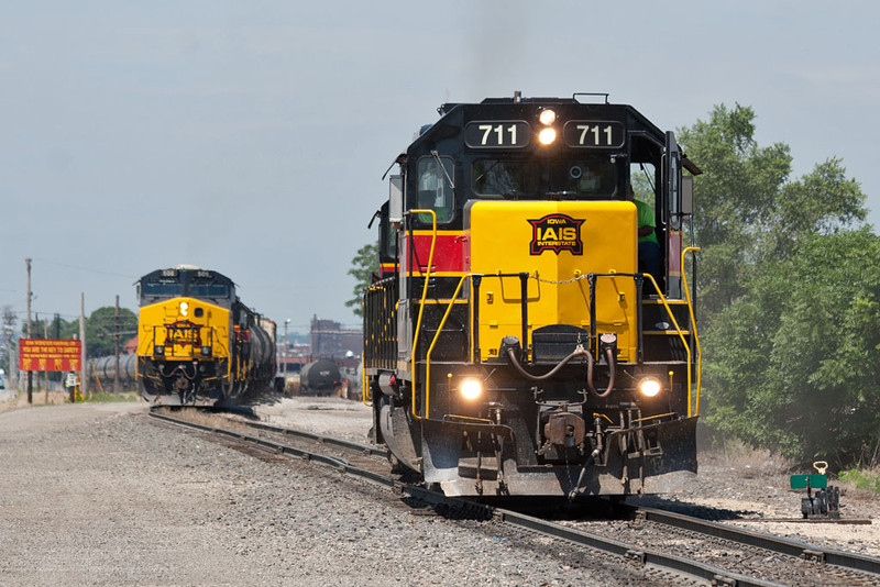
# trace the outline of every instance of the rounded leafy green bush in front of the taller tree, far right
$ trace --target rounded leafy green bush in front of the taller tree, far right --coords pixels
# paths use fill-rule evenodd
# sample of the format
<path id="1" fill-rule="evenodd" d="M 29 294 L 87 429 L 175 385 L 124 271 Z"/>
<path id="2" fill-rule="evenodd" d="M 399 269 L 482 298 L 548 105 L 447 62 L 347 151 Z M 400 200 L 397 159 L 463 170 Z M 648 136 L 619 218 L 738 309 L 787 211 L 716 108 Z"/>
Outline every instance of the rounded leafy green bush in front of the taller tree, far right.
<path id="1" fill-rule="evenodd" d="M 880 237 L 861 229 L 801 245 L 719 313 L 724 328 L 706 333 L 708 423 L 804 461 L 876 459 Z"/>

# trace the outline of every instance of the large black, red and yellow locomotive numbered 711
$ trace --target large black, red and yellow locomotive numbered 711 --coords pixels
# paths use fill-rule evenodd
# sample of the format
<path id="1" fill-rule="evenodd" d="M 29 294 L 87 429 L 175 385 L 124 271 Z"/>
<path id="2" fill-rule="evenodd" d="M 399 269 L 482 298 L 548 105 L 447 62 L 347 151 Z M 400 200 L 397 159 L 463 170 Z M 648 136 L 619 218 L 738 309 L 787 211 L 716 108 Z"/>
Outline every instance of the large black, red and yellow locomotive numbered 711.
<path id="1" fill-rule="evenodd" d="M 600 96 L 447 103 L 396 158 L 364 294 L 364 397 L 376 441 L 448 495 L 625 496 L 696 472 L 682 267 L 700 169 L 673 133 Z"/>

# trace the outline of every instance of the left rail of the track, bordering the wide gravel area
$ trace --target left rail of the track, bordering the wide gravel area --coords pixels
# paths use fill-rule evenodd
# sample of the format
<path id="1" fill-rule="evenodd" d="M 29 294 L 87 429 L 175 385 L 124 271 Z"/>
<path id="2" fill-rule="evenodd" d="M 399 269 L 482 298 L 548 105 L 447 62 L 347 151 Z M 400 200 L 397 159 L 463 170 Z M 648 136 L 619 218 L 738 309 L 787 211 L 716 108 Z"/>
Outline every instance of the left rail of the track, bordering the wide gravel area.
<path id="1" fill-rule="evenodd" d="M 447 497 L 439 491 L 433 491 L 426 489 L 424 487 L 400 483 L 399 480 L 391 478 L 388 476 L 352 466 L 348 462 L 339 457 L 322 455 L 310 451 L 304 451 L 301 448 L 287 446 L 277 442 L 260 439 L 257 436 L 251 436 L 249 434 L 244 434 L 241 432 L 235 432 L 206 424 L 198 424 L 195 422 L 188 422 L 186 420 L 180 420 L 169 416 L 160 414 L 154 410 L 150 411 L 150 416 L 177 425 L 194 428 L 206 432 L 211 432 L 215 434 L 221 434 L 237 440 L 251 442 L 276 453 L 294 454 L 307 458 L 309 461 L 315 461 L 318 463 L 326 464 L 346 475 L 359 477 L 375 483 L 383 487 L 392 488 L 395 491 L 409 495 L 416 499 L 419 499 L 432 506 L 444 506 L 455 511 L 471 511 L 474 513 L 480 513 L 486 519 L 495 518 L 498 521 L 502 521 L 515 528 L 520 528 L 540 534 L 544 534 L 548 536 L 565 540 L 579 546 L 585 546 L 601 552 L 606 552 L 618 556 L 623 556 L 631 562 L 639 563 L 642 566 L 650 566 L 653 568 L 659 568 L 671 573 L 676 573 L 680 575 L 686 575 L 692 578 L 704 579 L 715 585 L 735 585 L 737 587 L 779 587 L 781 585 L 784 585 L 780 583 L 760 579 L 757 577 L 740 575 L 738 573 L 733 573 L 725 568 L 701 563 L 698 561 L 691 561 L 680 556 L 668 555 L 645 549 L 638 549 L 634 545 L 629 545 L 613 539 L 603 538 L 597 534 L 591 534 L 582 530 L 568 528 L 547 520 L 541 520 L 539 518 L 534 518 L 530 516 L 518 513 L 512 510 L 506 510 L 488 506 L 485 503 L 471 501 L 468 499 Z M 254 425 L 254 423 L 252 422 L 242 422 L 242 423 L 245 425 Z M 304 436 L 306 435 L 307 434 L 304 434 Z M 359 443 L 352 443 L 352 444 L 359 444 Z"/>

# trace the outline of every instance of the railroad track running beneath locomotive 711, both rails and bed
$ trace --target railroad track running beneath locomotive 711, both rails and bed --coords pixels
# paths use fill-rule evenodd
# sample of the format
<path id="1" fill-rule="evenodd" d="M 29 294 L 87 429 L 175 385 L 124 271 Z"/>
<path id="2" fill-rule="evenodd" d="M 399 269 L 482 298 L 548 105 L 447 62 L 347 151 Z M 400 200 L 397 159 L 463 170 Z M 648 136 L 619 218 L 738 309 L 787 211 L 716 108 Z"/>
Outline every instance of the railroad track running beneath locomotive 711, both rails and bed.
<path id="1" fill-rule="evenodd" d="M 151 417 L 230 438 L 275 454 L 333 467 L 345 475 L 409 496 L 447 516 L 494 519 L 580 547 L 614 554 L 646 572 L 672 573 L 696 583 L 724 586 L 880 586 L 880 558 L 872 556 L 629 506 L 624 506 L 629 509 L 628 520 L 616 528 L 605 524 L 606 528 L 600 531 L 595 527 L 585 530 L 576 521 L 553 522 L 520 511 L 448 498 L 441 492 L 406 483 L 392 474 L 387 452 L 369 444 L 241 419 L 230 420 L 229 428 L 226 428 L 193 422 L 157 410 L 152 410 Z M 653 529 L 646 532 L 647 525 Z M 656 544 L 648 545 L 648 541 Z"/>

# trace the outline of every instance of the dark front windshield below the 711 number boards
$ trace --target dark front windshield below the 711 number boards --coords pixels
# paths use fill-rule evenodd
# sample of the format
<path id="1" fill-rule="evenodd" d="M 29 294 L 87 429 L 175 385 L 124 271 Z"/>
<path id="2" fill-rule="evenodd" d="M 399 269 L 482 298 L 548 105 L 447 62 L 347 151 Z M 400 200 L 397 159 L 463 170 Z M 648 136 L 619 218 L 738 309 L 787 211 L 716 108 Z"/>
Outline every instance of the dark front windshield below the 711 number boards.
<path id="1" fill-rule="evenodd" d="M 477 196 L 509 199 L 557 195 L 571 199 L 613 198 L 615 166 L 607 158 L 564 160 L 477 159 L 473 164 L 473 191 Z"/>

